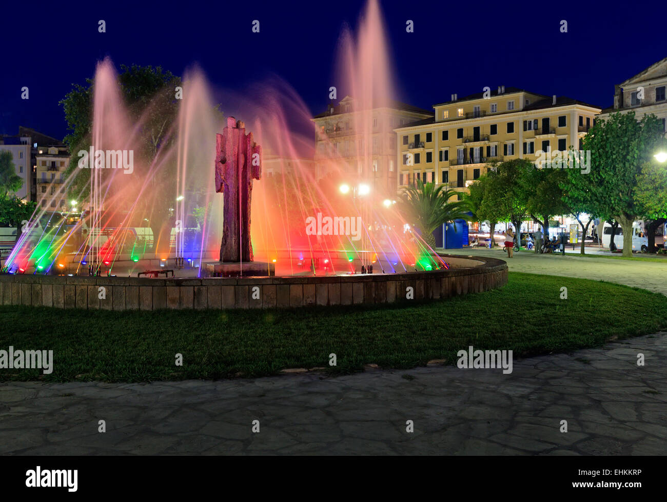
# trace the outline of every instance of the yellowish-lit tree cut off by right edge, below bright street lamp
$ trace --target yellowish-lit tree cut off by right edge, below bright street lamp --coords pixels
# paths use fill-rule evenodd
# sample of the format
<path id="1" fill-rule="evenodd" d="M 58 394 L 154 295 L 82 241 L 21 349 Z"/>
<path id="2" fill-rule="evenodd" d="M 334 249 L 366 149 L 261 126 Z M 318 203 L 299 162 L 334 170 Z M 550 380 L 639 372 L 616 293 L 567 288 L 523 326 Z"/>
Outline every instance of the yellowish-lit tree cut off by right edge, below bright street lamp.
<path id="1" fill-rule="evenodd" d="M 656 229 L 667 221 L 667 168 L 654 160 L 642 164 L 634 197 L 644 208 L 648 252 L 654 253 Z"/>

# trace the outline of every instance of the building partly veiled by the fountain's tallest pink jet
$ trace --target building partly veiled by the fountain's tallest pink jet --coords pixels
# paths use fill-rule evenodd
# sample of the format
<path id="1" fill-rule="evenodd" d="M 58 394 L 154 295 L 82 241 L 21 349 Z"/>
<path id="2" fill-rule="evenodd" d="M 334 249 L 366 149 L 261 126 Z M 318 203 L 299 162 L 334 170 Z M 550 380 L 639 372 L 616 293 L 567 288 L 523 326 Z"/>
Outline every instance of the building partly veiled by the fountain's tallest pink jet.
<path id="1" fill-rule="evenodd" d="M 364 109 L 346 96 L 313 118 L 317 127 L 315 169 L 317 179 L 340 175 L 348 183 L 368 183 L 376 192 L 394 193 L 398 183 L 396 127 L 433 113 L 390 101 L 387 106 Z M 331 160 L 335 162 L 331 162 Z M 336 170 L 336 173 L 331 171 Z"/>

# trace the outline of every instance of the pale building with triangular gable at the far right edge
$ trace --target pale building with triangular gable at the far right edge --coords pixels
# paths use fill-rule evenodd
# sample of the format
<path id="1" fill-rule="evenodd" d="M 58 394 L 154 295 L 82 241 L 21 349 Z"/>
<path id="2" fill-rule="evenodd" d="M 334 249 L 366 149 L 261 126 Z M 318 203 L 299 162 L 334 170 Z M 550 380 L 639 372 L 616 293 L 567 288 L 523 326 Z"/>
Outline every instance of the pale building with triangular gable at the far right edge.
<path id="1" fill-rule="evenodd" d="M 667 57 L 614 87 L 614 106 L 602 110 L 600 118 L 634 111 L 635 118 L 641 120 L 652 113 L 662 120 L 663 130 L 667 130 Z"/>

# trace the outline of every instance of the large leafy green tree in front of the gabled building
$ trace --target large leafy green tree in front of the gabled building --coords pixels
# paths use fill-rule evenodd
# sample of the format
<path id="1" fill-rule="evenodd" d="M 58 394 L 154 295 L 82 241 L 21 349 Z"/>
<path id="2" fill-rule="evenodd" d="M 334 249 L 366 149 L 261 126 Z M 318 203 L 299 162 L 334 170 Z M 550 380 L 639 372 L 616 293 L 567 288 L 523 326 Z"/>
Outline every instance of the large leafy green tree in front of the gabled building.
<path id="1" fill-rule="evenodd" d="M 632 257 L 632 223 L 642 215 L 634 187 L 642 165 L 664 141 L 662 123 L 655 115 L 641 121 L 634 112 L 614 113 L 598 120 L 584 137 L 583 150 L 589 169 L 568 169 L 564 190 L 570 207 L 615 219 L 623 229 L 623 255 Z"/>

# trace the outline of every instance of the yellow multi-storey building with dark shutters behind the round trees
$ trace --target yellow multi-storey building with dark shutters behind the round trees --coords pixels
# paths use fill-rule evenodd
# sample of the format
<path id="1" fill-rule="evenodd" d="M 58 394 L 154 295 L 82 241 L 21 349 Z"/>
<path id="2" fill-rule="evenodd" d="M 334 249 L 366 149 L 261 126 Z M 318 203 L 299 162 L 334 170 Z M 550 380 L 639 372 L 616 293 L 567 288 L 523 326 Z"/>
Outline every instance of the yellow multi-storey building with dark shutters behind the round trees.
<path id="1" fill-rule="evenodd" d="M 428 119 L 395 129 L 398 187 L 422 180 L 458 192 L 493 161 L 530 159 L 540 151 L 580 148 L 600 108 L 568 97 L 499 86 L 434 105 Z"/>

